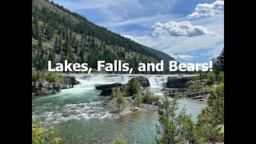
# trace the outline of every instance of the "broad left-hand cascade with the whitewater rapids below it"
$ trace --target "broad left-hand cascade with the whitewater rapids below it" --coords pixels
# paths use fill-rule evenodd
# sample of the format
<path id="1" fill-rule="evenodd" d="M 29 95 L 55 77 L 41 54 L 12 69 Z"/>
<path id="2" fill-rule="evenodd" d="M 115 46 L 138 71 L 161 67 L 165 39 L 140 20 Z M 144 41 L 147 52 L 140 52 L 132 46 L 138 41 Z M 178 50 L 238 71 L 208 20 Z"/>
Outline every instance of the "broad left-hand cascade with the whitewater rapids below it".
<path id="1" fill-rule="evenodd" d="M 102 97 L 98 97 L 100 90 L 95 90 L 95 86 L 115 82 L 126 83 L 130 78 L 126 75 L 107 74 L 70 75 L 74 76 L 81 83 L 75 85 L 72 89 L 62 90 L 61 93 L 35 99 L 34 103 L 45 101 L 46 98 L 48 101 L 53 100 L 53 102 L 46 102 L 42 109 L 35 110 L 34 117 L 46 123 L 72 119 L 110 118 L 110 111 L 102 106 L 101 101 L 98 101 Z M 55 106 L 52 106 L 52 103 Z M 44 109 L 47 109 L 47 111 Z"/>

